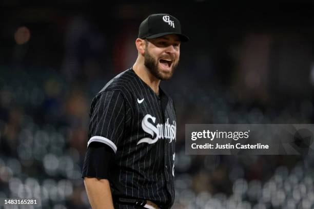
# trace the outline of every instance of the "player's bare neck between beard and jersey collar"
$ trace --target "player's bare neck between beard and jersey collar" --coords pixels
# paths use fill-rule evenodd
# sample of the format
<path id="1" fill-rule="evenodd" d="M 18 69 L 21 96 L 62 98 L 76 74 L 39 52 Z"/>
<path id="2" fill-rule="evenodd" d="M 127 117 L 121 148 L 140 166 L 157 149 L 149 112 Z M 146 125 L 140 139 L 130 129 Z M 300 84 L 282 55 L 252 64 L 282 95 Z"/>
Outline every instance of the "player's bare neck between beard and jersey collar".
<path id="1" fill-rule="evenodd" d="M 144 60 L 136 59 L 133 70 L 157 95 L 159 95 L 160 79 L 153 76 L 144 65 Z"/>

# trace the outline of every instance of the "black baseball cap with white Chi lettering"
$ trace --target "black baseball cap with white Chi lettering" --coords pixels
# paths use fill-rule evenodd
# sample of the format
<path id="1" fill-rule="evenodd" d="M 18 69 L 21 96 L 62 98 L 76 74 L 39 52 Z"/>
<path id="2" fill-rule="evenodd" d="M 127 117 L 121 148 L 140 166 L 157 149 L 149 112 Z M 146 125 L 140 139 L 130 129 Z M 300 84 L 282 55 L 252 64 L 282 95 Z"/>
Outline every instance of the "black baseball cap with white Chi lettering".
<path id="1" fill-rule="evenodd" d="M 181 41 L 189 38 L 181 33 L 181 25 L 177 18 L 170 14 L 151 14 L 140 25 L 139 38 L 158 38 L 164 35 L 176 34 Z"/>

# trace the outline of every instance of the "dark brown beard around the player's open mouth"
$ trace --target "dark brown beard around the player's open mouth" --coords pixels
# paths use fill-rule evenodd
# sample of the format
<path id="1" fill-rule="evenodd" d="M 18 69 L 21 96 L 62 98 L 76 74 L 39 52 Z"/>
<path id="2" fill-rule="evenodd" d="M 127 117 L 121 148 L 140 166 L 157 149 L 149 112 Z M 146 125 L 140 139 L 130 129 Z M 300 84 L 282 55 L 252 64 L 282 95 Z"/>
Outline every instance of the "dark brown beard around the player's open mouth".
<path id="1" fill-rule="evenodd" d="M 166 58 L 166 57 L 161 57 Z M 173 57 L 171 57 L 173 60 Z M 151 54 L 148 52 L 147 48 L 145 49 L 144 54 L 144 65 L 149 70 L 149 72 L 160 80 L 168 80 L 172 77 L 173 71 L 178 66 L 179 60 L 174 62 L 172 61 L 172 68 L 170 72 L 162 72 L 162 70 L 158 66 L 158 59 L 155 59 Z"/>

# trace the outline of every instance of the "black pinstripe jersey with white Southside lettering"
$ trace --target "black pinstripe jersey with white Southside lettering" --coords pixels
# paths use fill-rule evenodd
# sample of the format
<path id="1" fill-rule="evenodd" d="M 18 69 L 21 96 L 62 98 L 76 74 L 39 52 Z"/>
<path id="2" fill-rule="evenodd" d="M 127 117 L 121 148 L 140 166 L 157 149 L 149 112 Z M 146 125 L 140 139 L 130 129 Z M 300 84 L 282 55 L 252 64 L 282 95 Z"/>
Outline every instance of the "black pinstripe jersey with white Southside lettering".
<path id="1" fill-rule="evenodd" d="M 156 95 L 128 69 L 94 97 L 90 117 L 88 145 L 102 142 L 115 153 L 108 179 L 112 195 L 169 208 L 174 201 L 176 140 L 171 98 L 161 88 Z"/>

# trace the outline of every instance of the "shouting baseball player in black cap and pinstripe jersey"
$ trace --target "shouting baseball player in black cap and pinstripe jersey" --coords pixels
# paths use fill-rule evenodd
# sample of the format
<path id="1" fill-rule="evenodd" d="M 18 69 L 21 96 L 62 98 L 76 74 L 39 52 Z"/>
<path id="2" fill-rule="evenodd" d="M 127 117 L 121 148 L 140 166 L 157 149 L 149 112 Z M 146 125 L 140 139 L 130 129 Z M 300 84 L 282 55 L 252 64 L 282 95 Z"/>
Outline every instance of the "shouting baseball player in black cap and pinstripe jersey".
<path id="1" fill-rule="evenodd" d="M 188 41 L 178 19 L 152 14 L 135 40 L 138 58 L 93 98 L 83 166 L 92 208 L 170 208 L 176 121 L 160 88 Z"/>

